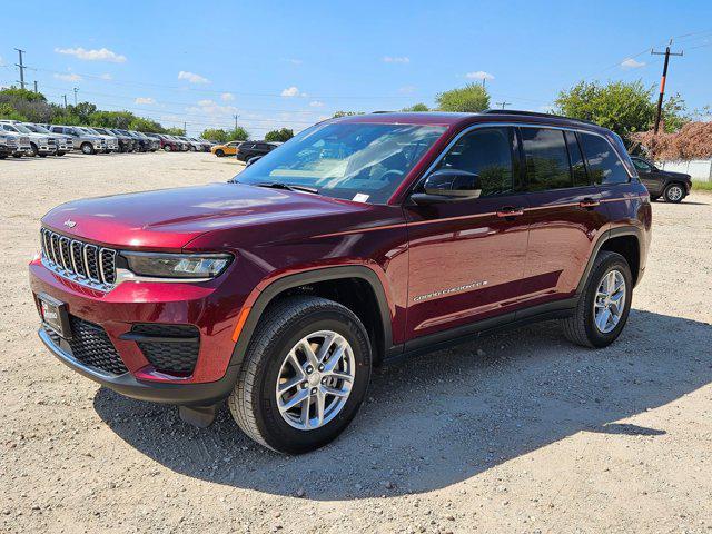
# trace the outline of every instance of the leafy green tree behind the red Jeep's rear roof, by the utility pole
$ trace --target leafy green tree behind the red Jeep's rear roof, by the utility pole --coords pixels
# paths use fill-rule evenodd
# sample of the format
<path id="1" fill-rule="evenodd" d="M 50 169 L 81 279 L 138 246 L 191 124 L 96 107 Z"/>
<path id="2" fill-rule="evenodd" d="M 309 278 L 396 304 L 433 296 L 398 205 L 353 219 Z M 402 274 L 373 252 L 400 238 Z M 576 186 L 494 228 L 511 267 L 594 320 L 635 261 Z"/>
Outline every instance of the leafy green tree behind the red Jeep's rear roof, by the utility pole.
<path id="1" fill-rule="evenodd" d="M 580 81 L 563 90 L 556 98 L 556 112 L 575 119 L 591 120 L 624 138 L 637 131 L 650 130 L 655 122 L 657 100 L 654 87 L 642 81 Z M 662 120 L 666 131 L 674 131 L 689 119 L 680 95 L 668 98 Z"/>

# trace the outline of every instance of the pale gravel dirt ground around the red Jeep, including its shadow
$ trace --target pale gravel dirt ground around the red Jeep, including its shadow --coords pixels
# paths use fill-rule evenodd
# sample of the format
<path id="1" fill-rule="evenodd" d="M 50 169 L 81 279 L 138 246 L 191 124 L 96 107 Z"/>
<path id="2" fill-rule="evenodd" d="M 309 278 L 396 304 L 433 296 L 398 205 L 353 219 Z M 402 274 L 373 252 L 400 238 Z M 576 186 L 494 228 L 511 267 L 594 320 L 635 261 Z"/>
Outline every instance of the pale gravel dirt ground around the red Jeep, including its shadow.
<path id="1" fill-rule="evenodd" d="M 555 323 L 377 369 L 346 434 L 288 457 L 222 411 L 72 373 L 36 335 L 27 261 L 75 198 L 222 181 L 210 155 L 0 161 L 0 532 L 712 533 L 712 196 L 656 202 L 629 325 L 603 350 Z"/>

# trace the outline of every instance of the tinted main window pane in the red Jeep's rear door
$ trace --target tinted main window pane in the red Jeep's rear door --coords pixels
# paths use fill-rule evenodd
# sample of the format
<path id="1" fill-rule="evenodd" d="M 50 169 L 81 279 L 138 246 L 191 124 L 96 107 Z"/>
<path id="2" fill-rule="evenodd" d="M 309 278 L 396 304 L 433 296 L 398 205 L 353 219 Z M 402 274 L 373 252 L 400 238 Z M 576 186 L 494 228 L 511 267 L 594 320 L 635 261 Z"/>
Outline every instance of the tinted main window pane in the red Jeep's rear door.
<path id="1" fill-rule="evenodd" d="M 568 151 L 562 130 L 522 128 L 522 148 L 530 191 L 572 187 Z"/>

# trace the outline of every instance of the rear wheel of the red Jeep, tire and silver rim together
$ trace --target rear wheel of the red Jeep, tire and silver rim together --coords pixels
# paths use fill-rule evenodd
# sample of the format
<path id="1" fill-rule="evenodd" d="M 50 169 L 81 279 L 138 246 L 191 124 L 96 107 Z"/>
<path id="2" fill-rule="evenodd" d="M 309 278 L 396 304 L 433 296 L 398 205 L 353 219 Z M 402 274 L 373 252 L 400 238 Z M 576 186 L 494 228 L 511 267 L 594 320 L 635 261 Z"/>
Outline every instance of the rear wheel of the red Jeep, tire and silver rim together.
<path id="1" fill-rule="evenodd" d="M 592 348 L 612 344 L 627 322 L 632 280 L 623 256 L 609 250 L 599 253 L 574 314 L 562 320 L 566 338 Z"/>

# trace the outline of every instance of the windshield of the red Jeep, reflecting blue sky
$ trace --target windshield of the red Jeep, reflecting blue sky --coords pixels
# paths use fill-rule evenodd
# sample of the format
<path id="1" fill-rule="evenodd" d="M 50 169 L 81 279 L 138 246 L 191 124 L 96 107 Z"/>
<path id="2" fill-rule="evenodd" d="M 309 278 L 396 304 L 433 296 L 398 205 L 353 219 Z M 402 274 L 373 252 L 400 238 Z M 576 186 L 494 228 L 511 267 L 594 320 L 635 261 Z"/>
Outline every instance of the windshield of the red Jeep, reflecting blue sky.
<path id="1" fill-rule="evenodd" d="M 247 167 L 234 181 L 301 186 L 329 197 L 385 204 L 444 131 L 415 125 L 317 125 Z"/>

